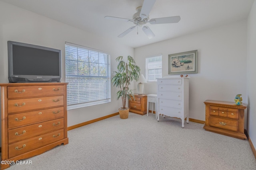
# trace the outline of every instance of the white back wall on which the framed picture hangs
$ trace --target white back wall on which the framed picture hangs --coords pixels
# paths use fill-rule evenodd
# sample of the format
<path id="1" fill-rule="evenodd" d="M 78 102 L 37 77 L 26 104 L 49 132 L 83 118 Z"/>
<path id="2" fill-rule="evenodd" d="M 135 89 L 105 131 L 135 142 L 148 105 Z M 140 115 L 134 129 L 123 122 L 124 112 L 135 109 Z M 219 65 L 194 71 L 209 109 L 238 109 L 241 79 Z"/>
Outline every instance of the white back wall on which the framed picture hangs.
<path id="1" fill-rule="evenodd" d="M 135 59 L 145 74 L 145 58 L 162 54 L 162 76 L 168 76 L 168 55 L 198 50 L 198 73 L 188 74 L 189 117 L 205 121 L 205 100 L 246 101 L 247 21 L 223 25 L 135 49 Z M 145 83 L 144 93 L 156 94 L 157 84 Z"/>

